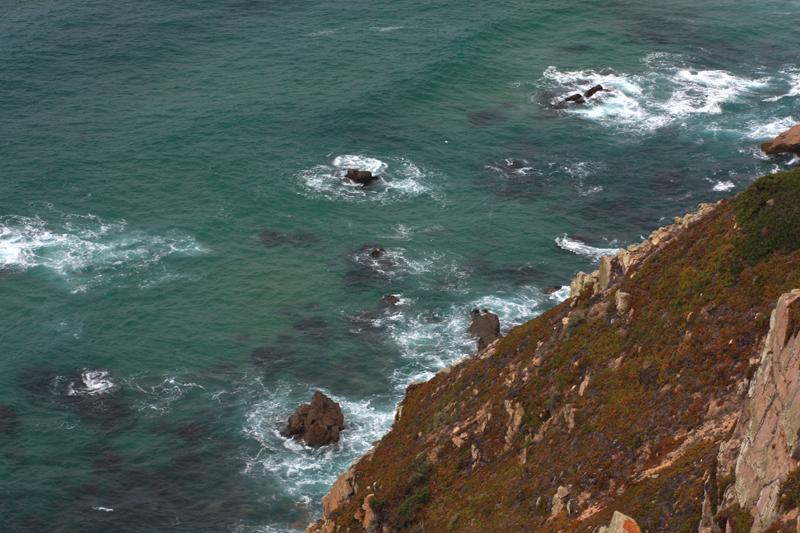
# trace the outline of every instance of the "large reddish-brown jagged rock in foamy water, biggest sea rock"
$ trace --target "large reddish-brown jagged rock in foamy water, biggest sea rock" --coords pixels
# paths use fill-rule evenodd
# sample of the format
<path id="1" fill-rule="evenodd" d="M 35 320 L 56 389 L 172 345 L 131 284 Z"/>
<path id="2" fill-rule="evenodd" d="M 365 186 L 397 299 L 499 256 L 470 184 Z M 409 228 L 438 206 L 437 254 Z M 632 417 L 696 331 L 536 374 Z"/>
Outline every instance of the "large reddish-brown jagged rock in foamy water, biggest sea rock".
<path id="1" fill-rule="evenodd" d="M 303 404 L 292 413 L 283 435 L 302 438 L 308 446 L 325 446 L 339 442 L 342 429 L 344 415 L 339 404 L 316 391 L 310 404 Z"/>

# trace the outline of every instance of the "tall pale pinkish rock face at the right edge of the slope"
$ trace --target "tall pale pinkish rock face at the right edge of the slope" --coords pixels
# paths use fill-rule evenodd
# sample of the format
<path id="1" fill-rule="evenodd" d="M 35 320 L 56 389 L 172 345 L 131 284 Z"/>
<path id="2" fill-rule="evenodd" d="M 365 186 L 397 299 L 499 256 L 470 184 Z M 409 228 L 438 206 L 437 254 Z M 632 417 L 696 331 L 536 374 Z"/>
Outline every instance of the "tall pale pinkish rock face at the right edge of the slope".
<path id="1" fill-rule="evenodd" d="M 751 531 L 778 517 L 780 486 L 797 468 L 800 430 L 800 289 L 783 294 L 770 318 L 761 362 L 737 426 L 734 496 L 754 517 Z"/>

